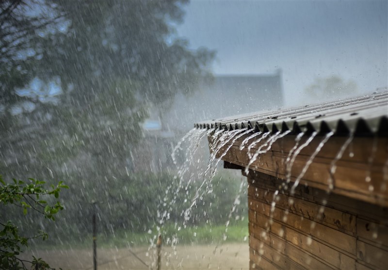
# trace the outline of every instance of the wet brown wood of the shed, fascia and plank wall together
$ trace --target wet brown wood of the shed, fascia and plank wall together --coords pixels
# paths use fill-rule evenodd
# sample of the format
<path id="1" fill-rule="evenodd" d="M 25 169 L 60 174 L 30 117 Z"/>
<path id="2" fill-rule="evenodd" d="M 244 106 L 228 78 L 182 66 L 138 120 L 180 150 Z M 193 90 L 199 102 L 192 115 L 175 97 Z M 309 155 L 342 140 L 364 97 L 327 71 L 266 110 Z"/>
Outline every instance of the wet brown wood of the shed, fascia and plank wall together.
<path id="1" fill-rule="evenodd" d="M 251 155 L 266 152 L 246 173 L 247 146 L 259 138 L 240 149 L 248 136 L 226 143 L 216 157 L 222 155 L 226 167 L 241 169 L 248 178 L 250 269 L 387 267 L 388 138 L 354 138 L 333 163 L 348 138 L 331 137 L 301 175 L 323 137 L 303 148 L 290 170 L 287 159 L 296 136 L 272 145 L 268 136 L 250 150 Z M 217 139 L 209 139 L 212 149 Z M 307 140 L 302 137 L 299 145 Z"/>

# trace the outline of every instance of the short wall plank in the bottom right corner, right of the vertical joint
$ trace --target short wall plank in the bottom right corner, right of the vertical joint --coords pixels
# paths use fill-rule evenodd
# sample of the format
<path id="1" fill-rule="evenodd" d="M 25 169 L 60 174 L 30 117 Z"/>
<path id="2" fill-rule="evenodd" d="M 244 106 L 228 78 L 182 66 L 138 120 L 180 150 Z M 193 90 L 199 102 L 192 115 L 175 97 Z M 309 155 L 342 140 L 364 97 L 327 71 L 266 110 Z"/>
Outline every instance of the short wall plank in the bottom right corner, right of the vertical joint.
<path id="1" fill-rule="evenodd" d="M 387 269 L 388 251 L 357 240 L 357 258 L 378 269 Z"/>

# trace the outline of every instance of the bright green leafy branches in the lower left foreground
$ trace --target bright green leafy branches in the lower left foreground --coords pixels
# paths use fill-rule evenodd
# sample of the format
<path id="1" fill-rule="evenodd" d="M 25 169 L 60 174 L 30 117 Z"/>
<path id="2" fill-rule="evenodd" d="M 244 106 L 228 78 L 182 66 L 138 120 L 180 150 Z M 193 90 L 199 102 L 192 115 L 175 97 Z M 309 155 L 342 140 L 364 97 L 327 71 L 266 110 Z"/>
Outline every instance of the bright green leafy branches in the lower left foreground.
<path id="1" fill-rule="evenodd" d="M 45 181 L 32 178 L 29 178 L 28 183 L 13 179 L 13 183 L 7 184 L 0 175 L 0 204 L 18 206 L 23 209 L 24 215 L 27 215 L 28 209 L 32 209 L 46 219 L 54 221 L 54 215 L 63 210 L 64 206 L 59 201 L 48 203 L 42 197 L 49 196 L 58 199 L 61 189 L 68 189 L 68 187 L 60 181 L 57 186 L 51 185 L 51 188 L 47 190 L 45 184 Z M 49 237 L 47 233 L 39 230 L 32 237 L 23 237 L 20 236 L 18 227 L 11 221 L 1 220 L 0 226 L 2 227 L 0 231 L 0 269 L 27 269 L 26 263 L 30 263 L 36 269 L 50 269 L 41 258 L 33 257 L 32 261 L 27 261 L 18 257 L 21 248 L 28 247 L 30 239 L 46 240 Z"/>

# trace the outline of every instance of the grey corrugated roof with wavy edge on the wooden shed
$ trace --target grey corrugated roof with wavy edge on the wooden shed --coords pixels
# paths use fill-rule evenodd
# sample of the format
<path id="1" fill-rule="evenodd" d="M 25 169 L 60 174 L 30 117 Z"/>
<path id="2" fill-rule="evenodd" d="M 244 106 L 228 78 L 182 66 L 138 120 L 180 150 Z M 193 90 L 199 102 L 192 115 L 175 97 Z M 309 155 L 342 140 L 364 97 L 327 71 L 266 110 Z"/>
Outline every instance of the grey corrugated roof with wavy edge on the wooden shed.
<path id="1" fill-rule="evenodd" d="M 388 135 L 388 91 L 339 101 L 256 112 L 194 124 L 197 128 L 255 128 L 256 132 L 333 131 L 337 135 Z"/>

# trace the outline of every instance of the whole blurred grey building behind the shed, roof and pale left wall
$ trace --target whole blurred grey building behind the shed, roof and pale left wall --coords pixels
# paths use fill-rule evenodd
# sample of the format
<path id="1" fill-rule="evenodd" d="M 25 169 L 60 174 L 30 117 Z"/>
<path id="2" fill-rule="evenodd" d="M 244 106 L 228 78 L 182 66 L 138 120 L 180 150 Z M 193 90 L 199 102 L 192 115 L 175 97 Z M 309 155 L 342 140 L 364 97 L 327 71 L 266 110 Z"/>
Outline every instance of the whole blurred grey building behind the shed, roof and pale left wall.
<path id="1" fill-rule="evenodd" d="M 157 172 L 170 167 L 174 145 L 193 128 L 193 123 L 252 111 L 275 110 L 283 106 L 283 96 L 281 69 L 272 74 L 216 75 L 211 82 L 203 82 L 192 94 L 178 94 L 169 111 L 150 111 L 149 119 L 143 124 L 141 149 L 135 150 L 139 164 L 132 168 Z M 209 155 L 208 149 L 198 151 L 200 156 Z"/>

